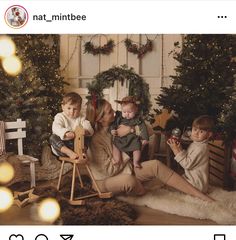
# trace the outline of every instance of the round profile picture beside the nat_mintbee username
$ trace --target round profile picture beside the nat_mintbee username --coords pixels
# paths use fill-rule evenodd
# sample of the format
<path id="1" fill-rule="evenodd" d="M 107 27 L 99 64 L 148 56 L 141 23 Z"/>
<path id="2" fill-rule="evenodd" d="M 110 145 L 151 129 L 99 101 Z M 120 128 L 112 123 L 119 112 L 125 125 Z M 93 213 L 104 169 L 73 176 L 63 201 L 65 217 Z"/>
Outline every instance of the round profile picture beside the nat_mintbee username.
<path id="1" fill-rule="evenodd" d="M 28 21 L 28 12 L 20 5 L 12 5 L 5 12 L 5 21 L 11 28 L 22 28 Z"/>

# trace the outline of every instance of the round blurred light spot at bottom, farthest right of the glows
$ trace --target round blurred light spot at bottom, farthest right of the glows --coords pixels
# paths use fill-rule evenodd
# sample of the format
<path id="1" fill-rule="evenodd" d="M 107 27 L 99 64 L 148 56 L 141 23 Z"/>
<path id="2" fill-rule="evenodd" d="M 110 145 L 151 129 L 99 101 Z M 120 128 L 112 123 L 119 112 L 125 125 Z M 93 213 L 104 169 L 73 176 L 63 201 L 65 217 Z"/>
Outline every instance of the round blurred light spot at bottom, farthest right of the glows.
<path id="1" fill-rule="evenodd" d="M 60 215 L 60 206 L 53 198 L 47 198 L 40 203 L 39 217 L 46 222 L 55 221 Z"/>

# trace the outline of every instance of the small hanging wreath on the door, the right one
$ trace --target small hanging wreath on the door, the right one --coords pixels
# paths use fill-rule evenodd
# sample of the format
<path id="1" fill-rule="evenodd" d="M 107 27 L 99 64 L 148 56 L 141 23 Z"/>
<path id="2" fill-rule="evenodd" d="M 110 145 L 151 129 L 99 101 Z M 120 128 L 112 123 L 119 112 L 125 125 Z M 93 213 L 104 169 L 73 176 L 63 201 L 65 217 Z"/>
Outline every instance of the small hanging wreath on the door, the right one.
<path id="1" fill-rule="evenodd" d="M 125 46 L 128 52 L 137 54 L 138 58 L 142 58 L 147 52 L 151 52 L 153 48 L 152 41 L 148 38 L 146 44 L 141 45 L 140 47 L 137 44 L 132 43 L 132 40 L 129 38 L 126 38 Z"/>

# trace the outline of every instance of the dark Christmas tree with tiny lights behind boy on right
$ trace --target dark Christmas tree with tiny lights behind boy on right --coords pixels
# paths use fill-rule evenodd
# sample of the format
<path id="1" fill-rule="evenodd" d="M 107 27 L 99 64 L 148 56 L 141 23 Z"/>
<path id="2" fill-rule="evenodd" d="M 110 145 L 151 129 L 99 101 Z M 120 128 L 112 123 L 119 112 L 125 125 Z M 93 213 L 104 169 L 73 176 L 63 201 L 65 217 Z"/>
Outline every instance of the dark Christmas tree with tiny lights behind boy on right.
<path id="1" fill-rule="evenodd" d="M 235 91 L 235 36 L 186 35 L 181 51 L 179 43 L 175 47 L 176 75 L 171 76 L 173 84 L 170 87 L 162 88 L 157 103 L 173 110 L 182 128 L 191 126 L 194 118 L 208 114 L 224 131 L 227 122 L 219 124 L 219 119 Z"/>

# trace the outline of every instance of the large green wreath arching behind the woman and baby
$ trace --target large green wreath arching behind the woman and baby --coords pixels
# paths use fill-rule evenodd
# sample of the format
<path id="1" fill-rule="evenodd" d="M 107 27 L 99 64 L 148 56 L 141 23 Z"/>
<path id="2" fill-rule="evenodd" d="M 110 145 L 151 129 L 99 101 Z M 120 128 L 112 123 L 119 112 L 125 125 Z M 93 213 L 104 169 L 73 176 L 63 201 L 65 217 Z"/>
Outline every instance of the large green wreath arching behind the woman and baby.
<path id="1" fill-rule="evenodd" d="M 149 85 L 145 80 L 134 72 L 133 68 L 128 68 L 126 65 L 121 67 L 112 67 L 104 72 L 98 73 L 92 83 L 88 84 L 88 100 L 93 101 L 104 97 L 103 90 L 114 86 L 115 81 L 129 81 L 128 95 L 136 96 L 140 100 L 140 110 L 143 116 L 148 117 L 151 108 Z"/>

